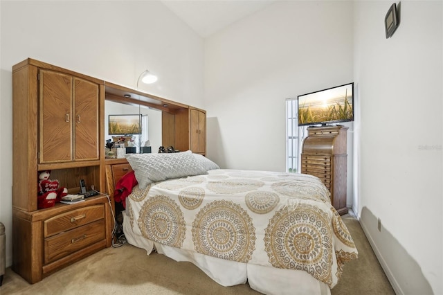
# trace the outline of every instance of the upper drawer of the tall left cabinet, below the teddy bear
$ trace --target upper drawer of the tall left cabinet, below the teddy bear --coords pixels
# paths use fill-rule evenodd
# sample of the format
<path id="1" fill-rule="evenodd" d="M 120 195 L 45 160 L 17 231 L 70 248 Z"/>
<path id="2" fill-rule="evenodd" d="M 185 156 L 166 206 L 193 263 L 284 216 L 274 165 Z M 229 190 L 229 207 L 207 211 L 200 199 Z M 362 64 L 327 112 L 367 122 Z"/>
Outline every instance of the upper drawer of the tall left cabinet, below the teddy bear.
<path id="1" fill-rule="evenodd" d="M 44 237 L 47 238 L 62 231 L 69 231 L 103 218 L 105 218 L 105 206 L 103 204 L 78 208 L 45 220 L 43 226 Z"/>

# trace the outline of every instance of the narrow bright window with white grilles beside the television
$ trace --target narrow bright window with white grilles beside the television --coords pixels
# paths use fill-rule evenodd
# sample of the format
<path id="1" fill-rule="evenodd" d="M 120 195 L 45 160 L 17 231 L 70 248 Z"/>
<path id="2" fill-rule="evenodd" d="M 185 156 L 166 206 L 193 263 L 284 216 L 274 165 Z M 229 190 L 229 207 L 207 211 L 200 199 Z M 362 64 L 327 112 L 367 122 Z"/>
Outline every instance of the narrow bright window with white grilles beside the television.
<path id="1" fill-rule="evenodd" d="M 286 100 L 286 171 L 298 172 L 297 98 Z"/>

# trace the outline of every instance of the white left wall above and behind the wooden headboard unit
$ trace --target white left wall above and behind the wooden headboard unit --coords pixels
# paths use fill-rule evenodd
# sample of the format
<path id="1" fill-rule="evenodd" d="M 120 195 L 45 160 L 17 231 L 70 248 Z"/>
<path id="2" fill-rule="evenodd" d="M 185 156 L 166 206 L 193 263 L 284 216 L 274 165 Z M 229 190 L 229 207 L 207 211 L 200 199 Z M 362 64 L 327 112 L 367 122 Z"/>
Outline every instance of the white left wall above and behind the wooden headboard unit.
<path id="1" fill-rule="evenodd" d="M 204 108 L 203 40 L 159 1 L 2 0 L 0 7 L 0 222 L 11 265 L 12 65 L 32 57 L 132 88 L 149 69 L 159 81 L 142 91 Z"/>

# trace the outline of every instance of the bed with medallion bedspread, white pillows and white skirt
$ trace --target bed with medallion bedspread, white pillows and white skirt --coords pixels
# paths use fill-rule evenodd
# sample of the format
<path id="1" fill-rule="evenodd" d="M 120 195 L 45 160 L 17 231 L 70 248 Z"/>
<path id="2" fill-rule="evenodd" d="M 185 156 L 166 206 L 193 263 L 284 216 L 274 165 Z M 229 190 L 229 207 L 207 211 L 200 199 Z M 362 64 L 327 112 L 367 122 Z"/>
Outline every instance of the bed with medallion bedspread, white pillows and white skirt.
<path id="1" fill-rule="evenodd" d="M 263 294 L 330 294 L 345 262 L 357 258 L 314 176 L 220 169 L 190 151 L 127 161 L 124 173 L 110 167 L 107 178 L 125 207 L 127 241 L 148 255 L 155 249 L 220 285 L 247 281 Z"/>

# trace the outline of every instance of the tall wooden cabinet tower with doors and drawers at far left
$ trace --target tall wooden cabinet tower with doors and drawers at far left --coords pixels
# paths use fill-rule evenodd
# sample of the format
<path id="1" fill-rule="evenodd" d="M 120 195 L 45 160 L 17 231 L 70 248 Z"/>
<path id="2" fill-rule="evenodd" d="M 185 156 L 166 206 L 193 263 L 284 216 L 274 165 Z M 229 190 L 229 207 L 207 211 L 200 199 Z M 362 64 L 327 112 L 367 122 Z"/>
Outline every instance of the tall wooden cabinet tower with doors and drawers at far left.
<path id="1" fill-rule="evenodd" d="M 80 191 L 80 179 L 105 191 L 103 82 L 28 59 L 12 67 L 12 84 L 12 269 L 36 283 L 111 246 L 105 195 L 37 208 L 38 171 L 51 170 L 69 193 Z"/>

